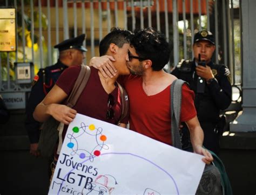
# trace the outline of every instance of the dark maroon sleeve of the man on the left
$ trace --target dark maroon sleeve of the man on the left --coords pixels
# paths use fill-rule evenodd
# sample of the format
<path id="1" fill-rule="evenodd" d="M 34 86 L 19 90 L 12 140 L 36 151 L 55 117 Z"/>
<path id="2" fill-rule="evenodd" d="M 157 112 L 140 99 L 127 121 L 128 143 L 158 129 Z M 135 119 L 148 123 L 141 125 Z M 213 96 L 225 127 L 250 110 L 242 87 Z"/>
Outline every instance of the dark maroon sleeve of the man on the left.
<path id="1" fill-rule="evenodd" d="M 80 65 L 70 66 L 69 68 L 66 68 L 59 76 L 56 85 L 62 88 L 64 92 L 69 95 L 73 86 L 75 85 L 80 69 Z"/>

